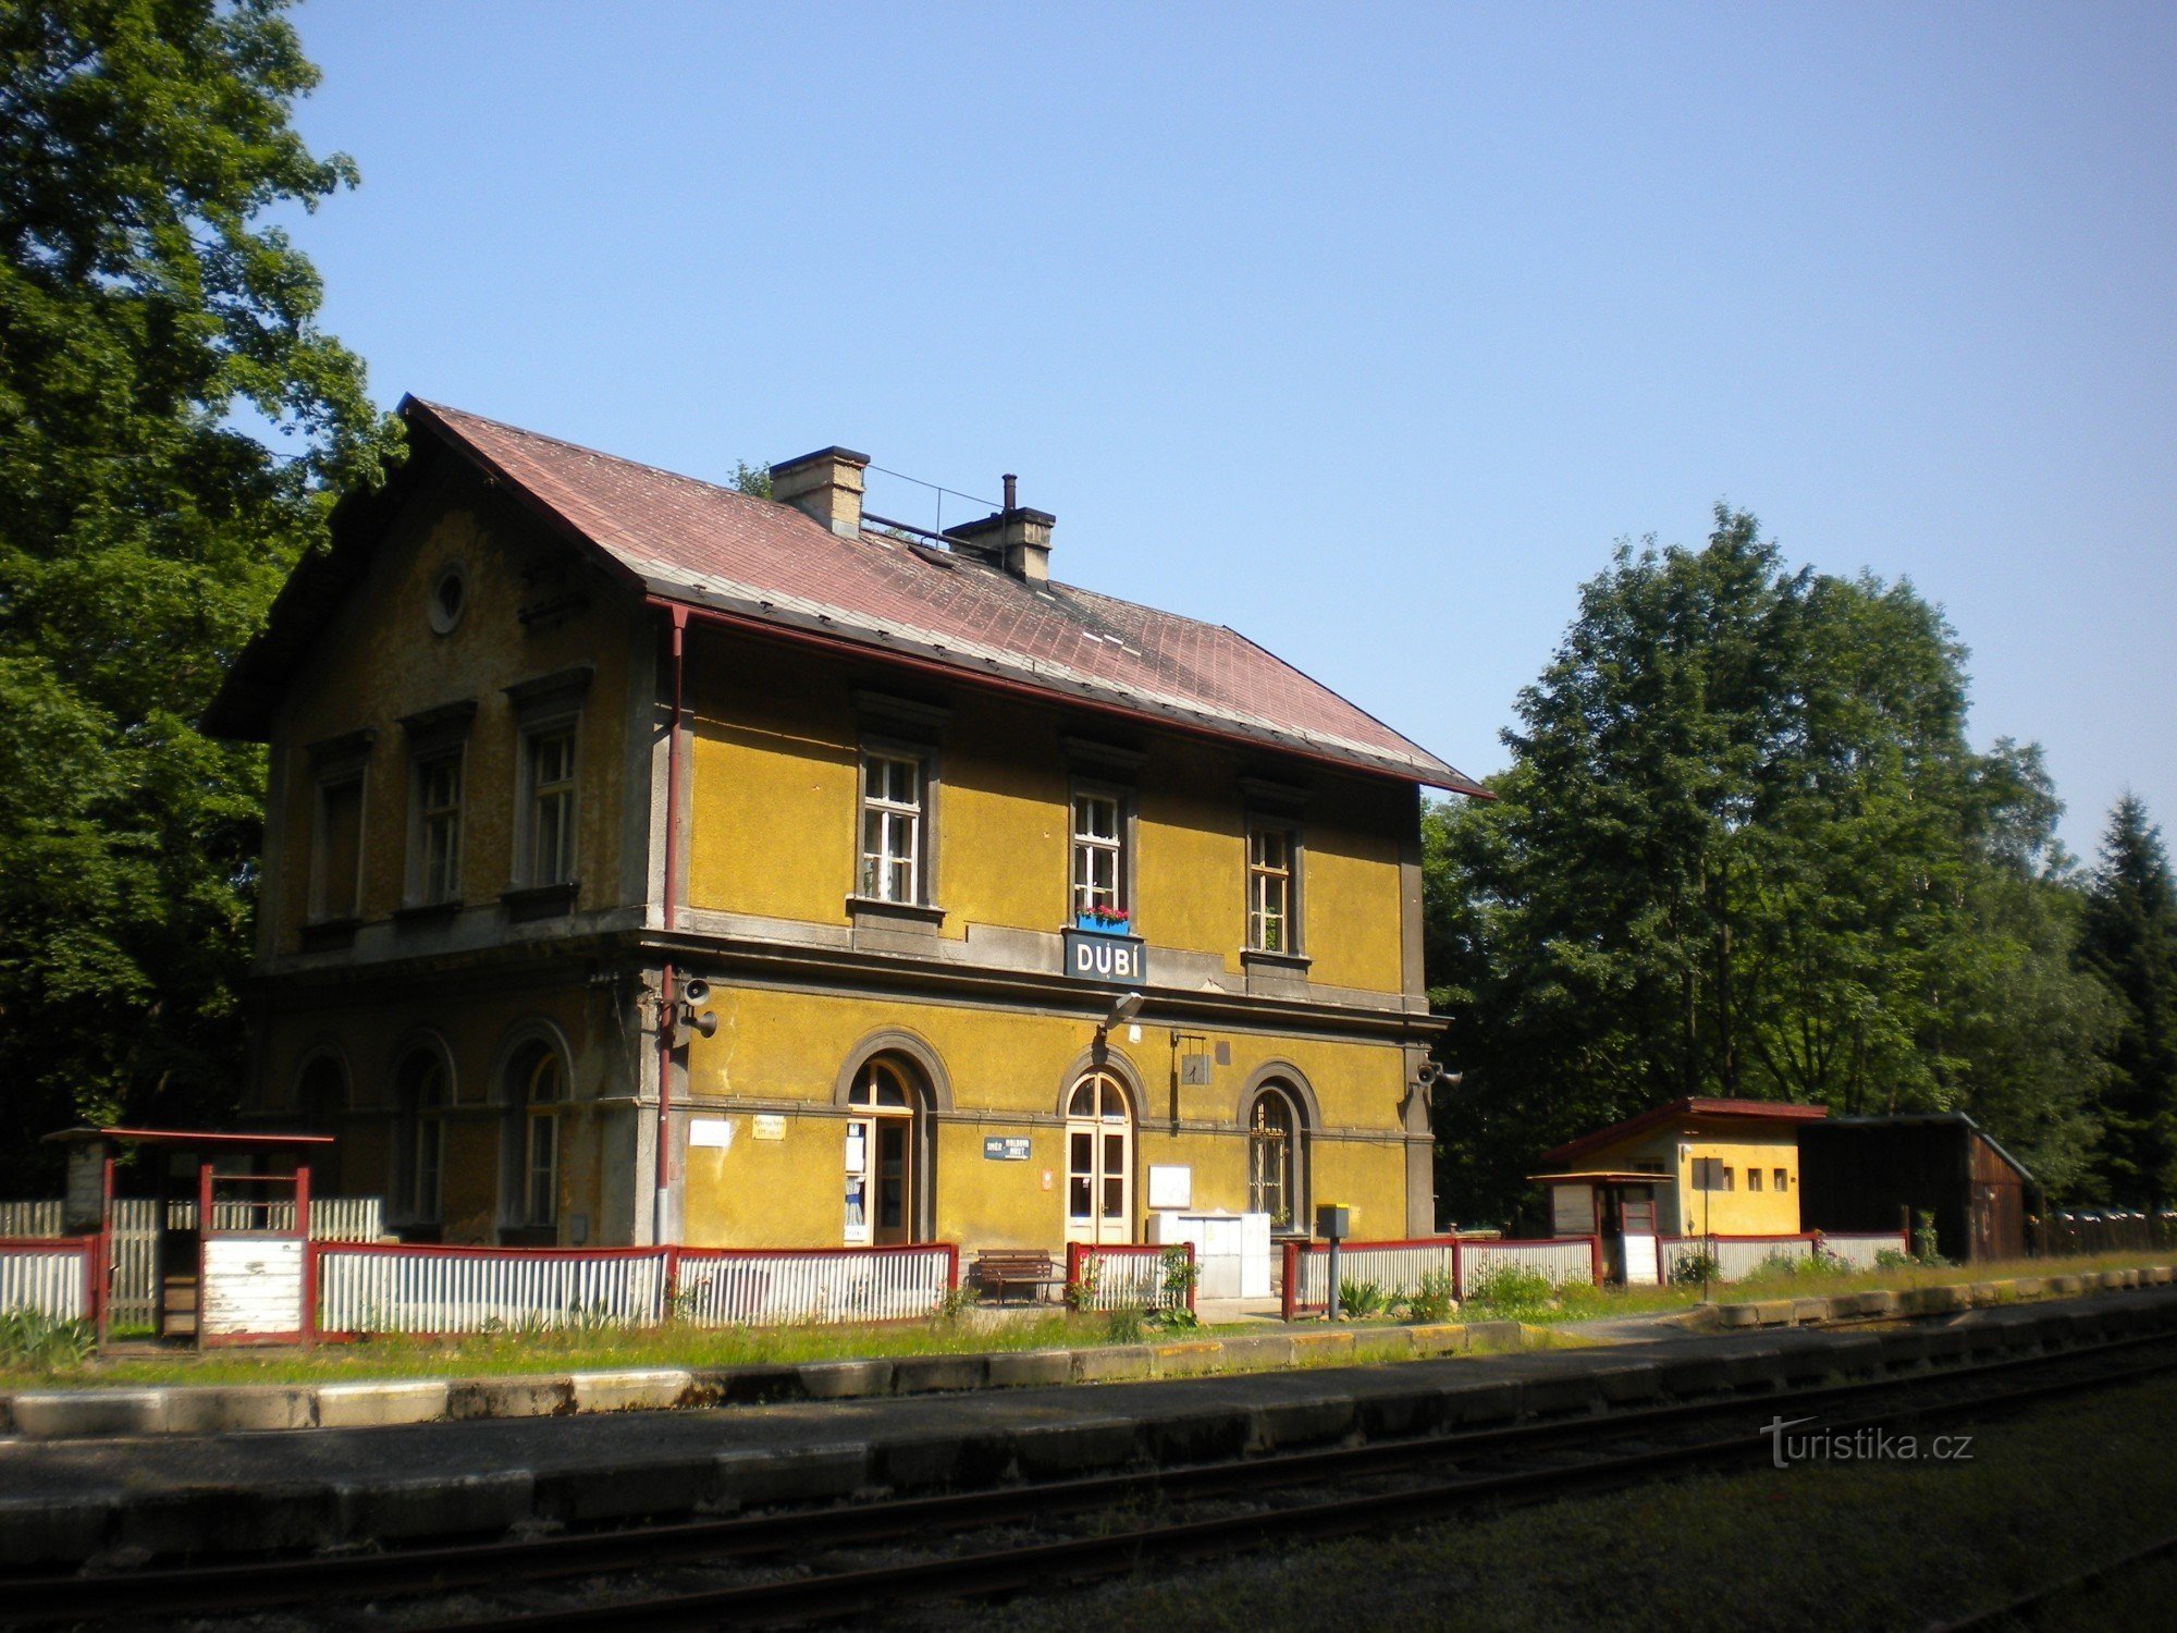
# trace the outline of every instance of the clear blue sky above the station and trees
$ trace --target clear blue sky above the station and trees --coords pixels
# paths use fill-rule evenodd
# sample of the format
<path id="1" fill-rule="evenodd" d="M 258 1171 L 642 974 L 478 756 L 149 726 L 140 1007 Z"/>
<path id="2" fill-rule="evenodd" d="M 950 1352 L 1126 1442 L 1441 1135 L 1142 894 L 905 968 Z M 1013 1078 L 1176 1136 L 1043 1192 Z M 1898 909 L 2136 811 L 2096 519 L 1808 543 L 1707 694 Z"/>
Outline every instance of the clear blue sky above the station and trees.
<path id="1" fill-rule="evenodd" d="M 2177 830 L 2177 7 L 296 26 L 364 172 L 296 235 L 388 405 L 1017 470 L 1058 577 L 1476 775 L 1611 542 L 1729 499 L 1944 605 L 2073 849 L 2125 786 Z"/>

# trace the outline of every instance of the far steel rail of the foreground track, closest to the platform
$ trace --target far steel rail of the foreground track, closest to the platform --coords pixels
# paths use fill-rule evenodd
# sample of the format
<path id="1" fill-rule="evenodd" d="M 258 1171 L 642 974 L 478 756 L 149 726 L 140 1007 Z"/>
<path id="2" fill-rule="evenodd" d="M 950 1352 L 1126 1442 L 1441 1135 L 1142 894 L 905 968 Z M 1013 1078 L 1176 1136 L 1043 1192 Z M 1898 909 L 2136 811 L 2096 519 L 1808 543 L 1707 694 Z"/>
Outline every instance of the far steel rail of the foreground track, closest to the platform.
<path id="1" fill-rule="evenodd" d="M 446 1544 L 381 1555 L 329 1559 L 272 1559 L 250 1563 L 137 1570 L 113 1576 L 0 1579 L 0 1603 L 11 1624 L 115 1616 L 157 1607 L 159 1613 L 239 1611 L 290 1605 L 327 1594 L 422 1594 L 479 1587 L 505 1581 L 549 1581 L 555 1576 L 640 1570 L 671 1559 L 762 1557 L 812 1546 L 888 1542 L 962 1531 L 1023 1513 L 1058 1515 L 1110 1509 L 1141 1498 L 1204 1498 L 1230 1491 L 1258 1494 L 1311 1481 L 1393 1474 L 1430 1463 L 1456 1463 L 1511 1452 L 1550 1450 L 1565 1444 L 1598 1444 L 1639 1437 L 1689 1422 L 1731 1413 L 1774 1411 L 1907 1396 L 1896 1415 L 1914 1411 L 1914 1396 L 1972 1385 L 2018 1372 L 2059 1370 L 2092 1363 L 2125 1350 L 2177 1343 L 2177 1333 L 2140 1333 L 2101 1339 L 2057 1352 L 1975 1361 L 1929 1372 L 1824 1383 L 1803 1389 L 1759 1393 L 1715 1393 L 1665 1407 L 1635 1407 L 1581 1413 L 1493 1428 L 1337 1446 L 1326 1450 L 1274 1452 L 1265 1457 L 1093 1474 L 1071 1481 L 1008 1485 L 925 1498 L 895 1498 L 871 1505 L 777 1511 L 742 1518 L 688 1520 L 655 1526 L 588 1531 L 522 1542 Z M 2177 1359 L 2142 1372 L 2177 1365 Z M 2044 1389 L 2064 1391 L 2099 1383 L 2064 1380 Z M 1924 1407 L 1918 1407 L 1924 1411 Z"/>

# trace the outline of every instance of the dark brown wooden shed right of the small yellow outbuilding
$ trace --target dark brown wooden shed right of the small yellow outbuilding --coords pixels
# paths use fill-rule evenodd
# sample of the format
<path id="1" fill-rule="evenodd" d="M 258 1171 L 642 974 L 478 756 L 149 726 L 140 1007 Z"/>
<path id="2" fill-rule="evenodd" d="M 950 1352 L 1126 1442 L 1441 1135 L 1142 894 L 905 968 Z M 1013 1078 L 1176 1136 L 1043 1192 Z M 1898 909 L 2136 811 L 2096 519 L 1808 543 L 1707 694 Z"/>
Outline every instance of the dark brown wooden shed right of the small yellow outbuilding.
<path id="1" fill-rule="evenodd" d="M 1798 1174 L 1805 1230 L 1896 1230 L 1911 1211 L 1944 1258 L 2027 1256 L 2035 1180 L 1961 1110 L 1805 1124 Z"/>

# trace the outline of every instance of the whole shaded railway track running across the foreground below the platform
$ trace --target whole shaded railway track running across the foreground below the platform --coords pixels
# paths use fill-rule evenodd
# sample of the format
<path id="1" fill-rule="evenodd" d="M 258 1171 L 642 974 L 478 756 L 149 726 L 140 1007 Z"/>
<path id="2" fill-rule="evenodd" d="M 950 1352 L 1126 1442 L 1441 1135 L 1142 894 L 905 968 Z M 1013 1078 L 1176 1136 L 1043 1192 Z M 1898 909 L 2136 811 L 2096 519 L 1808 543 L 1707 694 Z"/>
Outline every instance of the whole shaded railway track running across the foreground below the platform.
<path id="1" fill-rule="evenodd" d="M 337 1613 L 353 1626 L 509 1633 L 821 1622 L 906 1600 L 1121 1574 L 1154 1559 L 1230 1555 L 1287 1535 L 1315 1539 L 1746 1465 L 1770 1454 L 1763 1424 L 1774 1417 L 1816 1415 L 1827 1433 L 1853 1435 L 2001 1413 L 2170 1370 L 2177 1335 L 2149 1333 L 1894 1378 L 945 1496 L 379 1555 L 13 1579 L 0 1581 L 0 1618 L 11 1626 L 126 1624 L 307 1605 L 313 1620 Z M 1112 1515 L 1128 1524 L 1115 1528 Z M 873 1550 L 914 1557 L 869 1563 Z"/>

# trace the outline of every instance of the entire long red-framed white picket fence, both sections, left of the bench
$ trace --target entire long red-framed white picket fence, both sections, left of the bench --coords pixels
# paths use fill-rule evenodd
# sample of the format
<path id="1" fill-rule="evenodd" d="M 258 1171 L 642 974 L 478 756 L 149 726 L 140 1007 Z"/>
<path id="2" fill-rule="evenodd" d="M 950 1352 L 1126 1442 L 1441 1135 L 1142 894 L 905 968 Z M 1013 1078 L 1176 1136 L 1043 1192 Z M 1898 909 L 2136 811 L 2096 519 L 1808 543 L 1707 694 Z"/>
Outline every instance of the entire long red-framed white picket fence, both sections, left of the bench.
<path id="1" fill-rule="evenodd" d="M 490 1333 L 525 1326 L 762 1326 L 934 1315 L 949 1243 L 838 1250 L 405 1248 L 320 1243 L 318 1330 Z"/>

